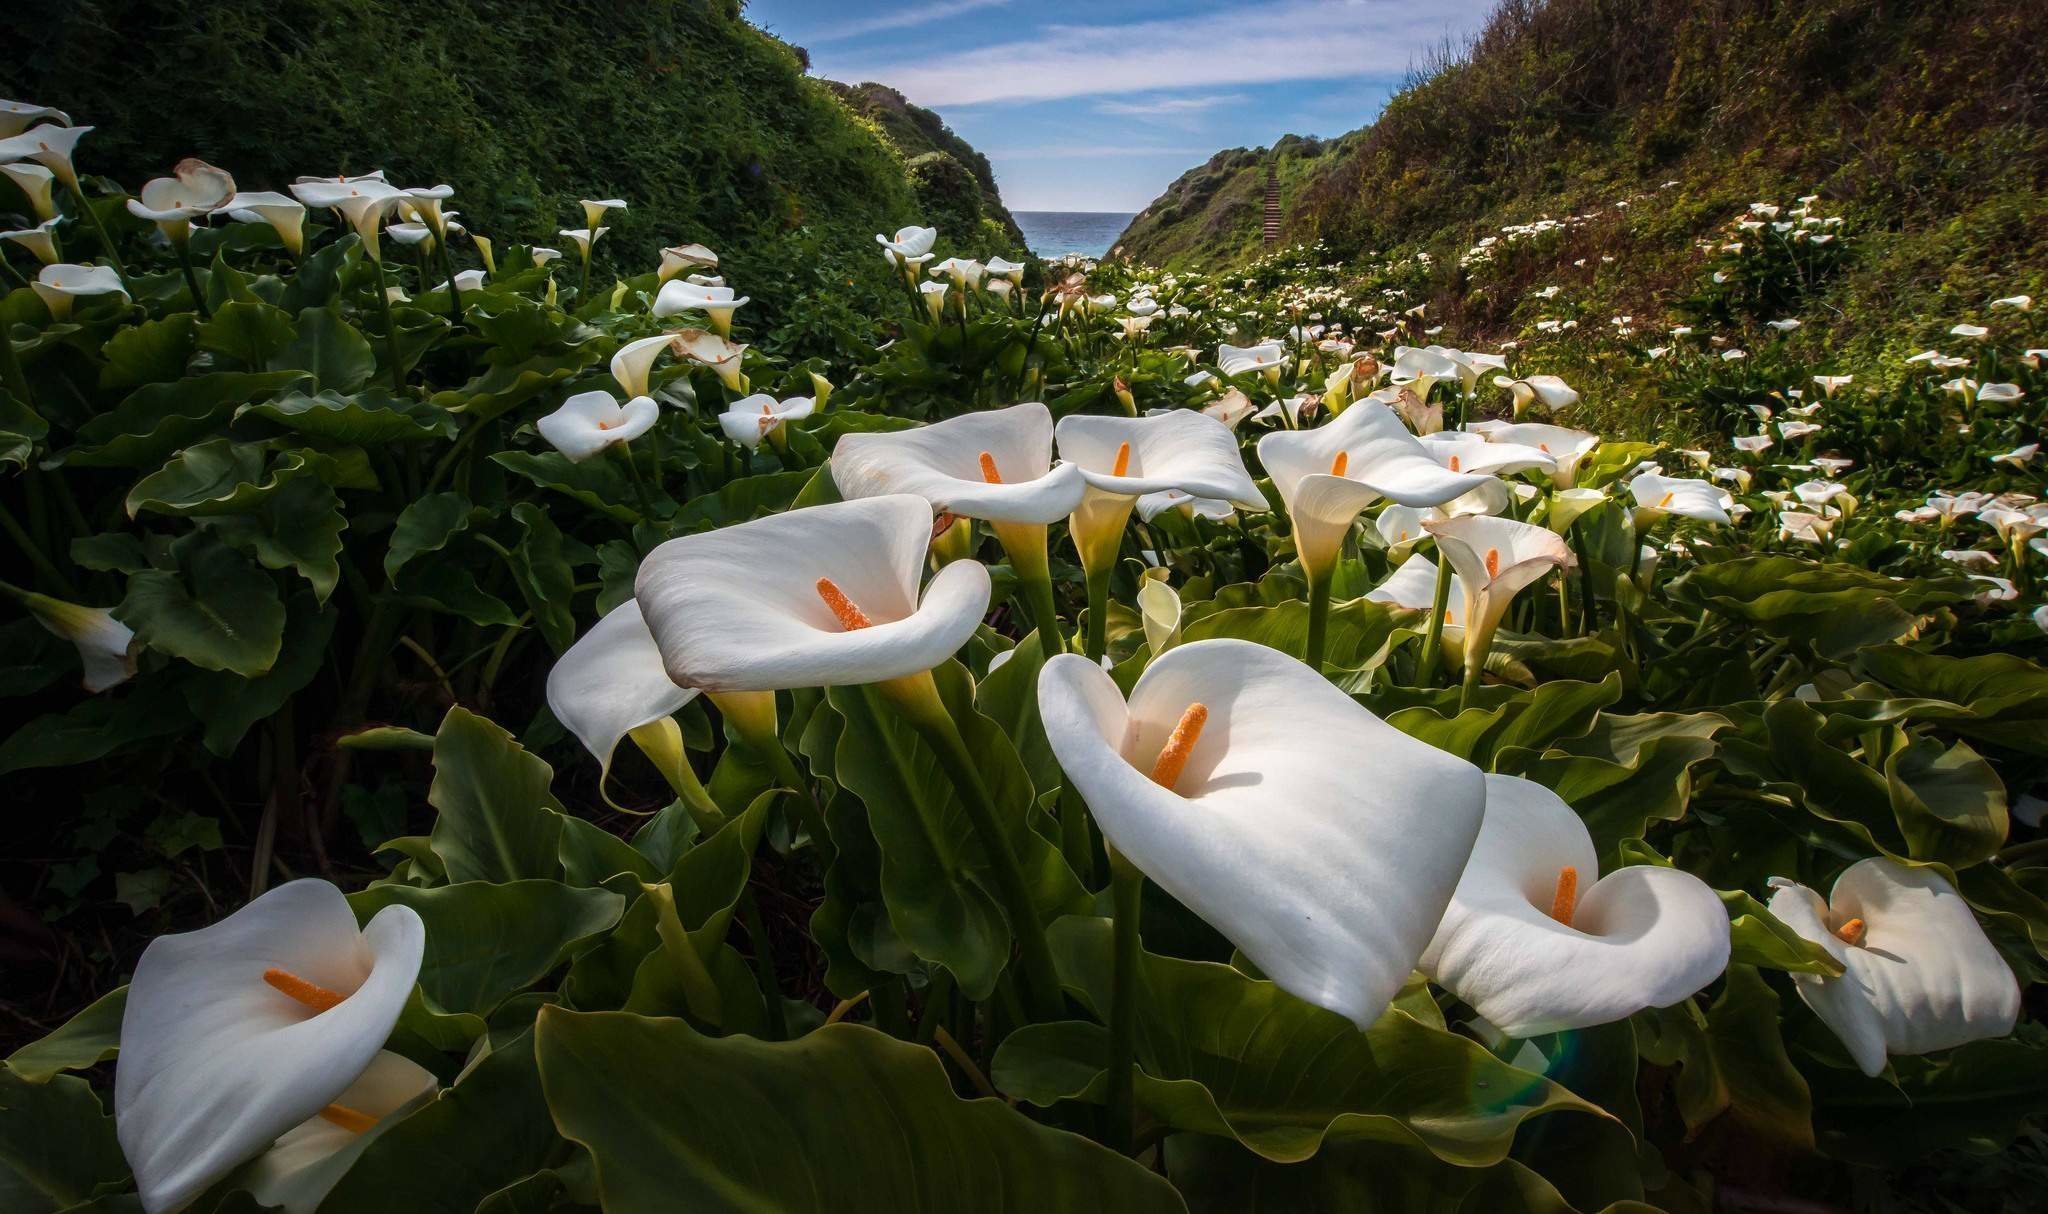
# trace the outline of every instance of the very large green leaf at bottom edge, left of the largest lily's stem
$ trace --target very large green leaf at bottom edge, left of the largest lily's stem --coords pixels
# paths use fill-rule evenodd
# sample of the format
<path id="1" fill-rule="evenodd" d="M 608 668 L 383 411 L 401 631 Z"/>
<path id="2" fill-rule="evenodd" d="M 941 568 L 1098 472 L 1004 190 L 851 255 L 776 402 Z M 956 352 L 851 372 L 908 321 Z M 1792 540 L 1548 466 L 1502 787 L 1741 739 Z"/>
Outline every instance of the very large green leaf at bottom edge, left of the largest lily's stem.
<path id="1" fill-rule="evenodd" d="M 541 1011 L 541 1081 L 610 1214 L 698 1210 L 1182 1210 L 1171 1185 L 995 1099 L 926 1048 L 834 1024 L 795 1042 L 682 1020 Z"/>

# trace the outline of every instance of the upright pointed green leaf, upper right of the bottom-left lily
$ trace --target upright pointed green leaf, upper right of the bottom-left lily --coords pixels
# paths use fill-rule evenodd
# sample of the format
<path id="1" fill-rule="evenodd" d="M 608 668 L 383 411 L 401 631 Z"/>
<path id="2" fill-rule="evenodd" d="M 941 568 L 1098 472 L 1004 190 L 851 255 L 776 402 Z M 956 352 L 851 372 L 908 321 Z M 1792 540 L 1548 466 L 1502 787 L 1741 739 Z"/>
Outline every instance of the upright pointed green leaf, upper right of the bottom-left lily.
<path id="1" fill-rule="evenodd" d="M 451 882 L 561 880 L 561 805 L 555 770 L 467 708 L 449 708 L 434 735 L 434 854 Z"/>

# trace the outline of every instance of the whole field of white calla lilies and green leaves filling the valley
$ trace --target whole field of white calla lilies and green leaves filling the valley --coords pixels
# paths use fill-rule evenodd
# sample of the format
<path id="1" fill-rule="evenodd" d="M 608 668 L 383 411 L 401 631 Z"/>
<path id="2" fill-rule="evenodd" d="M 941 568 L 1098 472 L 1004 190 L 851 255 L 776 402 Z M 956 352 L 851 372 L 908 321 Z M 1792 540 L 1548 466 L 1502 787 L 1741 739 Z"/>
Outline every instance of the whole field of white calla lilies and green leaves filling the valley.
<path id="1" fill-rule="evenodd" d="M 2017 285 L 1851 364 L 1819 194 L 1638 315 L 1573 242 L 1655 190 L 1530 215 L 1485 334 L 1415 250 L 905 227 L 844 358 L 688 231 L 612 264 L 653 201 L 123 184 L 84 121 L 0 106 L 4 909 L 78 966 L 0 1208 L 2048 1179 Z"/>

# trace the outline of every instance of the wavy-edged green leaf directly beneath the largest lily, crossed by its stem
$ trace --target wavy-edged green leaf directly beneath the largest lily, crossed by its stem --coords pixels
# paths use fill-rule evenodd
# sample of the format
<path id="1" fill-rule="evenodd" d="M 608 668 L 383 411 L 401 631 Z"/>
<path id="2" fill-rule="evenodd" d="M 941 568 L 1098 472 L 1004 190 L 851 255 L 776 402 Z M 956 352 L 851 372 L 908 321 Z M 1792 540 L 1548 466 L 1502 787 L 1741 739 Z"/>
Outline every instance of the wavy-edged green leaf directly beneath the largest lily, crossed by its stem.
<path id="1" fill-rule="evenodd" d="M 1061 977 L 1110 1011 L 1110 921 L 1053 925 Z M 1139 966 L 1137 1101 L 1169 1130 L 1235 1138 L 1300 1161 L 1325 1142 L 1423 1146 L 1446 1163 L 1499 1163 L 1528 1118 L 1606 1118 L 1567 1089 L 1501 1063 L 1479 1042 L 1401 1009 L 1370 1030 L 1231 966 L 1145 954 Z M 1034 1024 L 995 1052 L 995 1085 L 1038 1105 L 1100 1101 L 1108 1030 Z"/>

